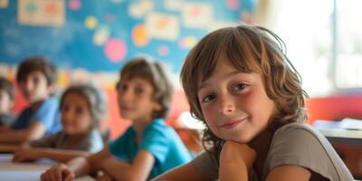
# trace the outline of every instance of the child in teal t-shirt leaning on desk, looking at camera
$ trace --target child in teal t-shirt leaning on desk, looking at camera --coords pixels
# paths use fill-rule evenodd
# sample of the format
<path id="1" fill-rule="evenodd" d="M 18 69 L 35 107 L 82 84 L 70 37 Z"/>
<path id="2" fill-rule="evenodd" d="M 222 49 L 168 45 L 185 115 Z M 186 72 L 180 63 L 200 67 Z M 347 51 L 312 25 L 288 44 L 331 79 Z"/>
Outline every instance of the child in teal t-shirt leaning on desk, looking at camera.
<path id="1" fill-rule="evenodd" d="M 102 178 L 146 180 L 191 159 L 176 131 L 164 122 L 172 87 L 159 63 L 145 58 L 131 60 L 120 72 L 117 90 L 120 115 L 131 119 L 132 126 L 99 153 L 50 168 L 42 180 L 99 171 Z"/>

